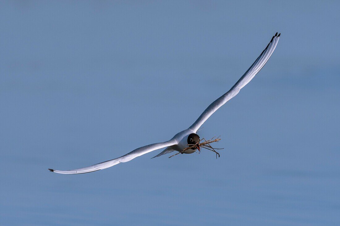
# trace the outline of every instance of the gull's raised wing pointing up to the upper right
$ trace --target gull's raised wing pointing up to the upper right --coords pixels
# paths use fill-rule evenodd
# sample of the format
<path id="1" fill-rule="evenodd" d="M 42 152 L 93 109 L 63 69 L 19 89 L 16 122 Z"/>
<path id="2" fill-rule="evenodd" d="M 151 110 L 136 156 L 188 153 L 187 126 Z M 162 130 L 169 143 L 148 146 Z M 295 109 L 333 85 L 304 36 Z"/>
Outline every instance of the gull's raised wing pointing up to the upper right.
<path id="1" fill-rule="evenodd" d="M 240 89 L 242 89 L 254 76 L 262 69 L 262 67 L 267 63 L 270 56 L 275 50 L 277 42 L 280 38 L 280 34 L 277 33 L 273 36 L 272 40 L 267 45 L 266 49 L 262 51 L 259 57 L 255 60 L 255 62 L 250 66 L 250 68 L 244 73 L 244 75 L 236 82 L 236 84 L 224 95 L 215 100 L 209 105 L 204 112 L 200 115 L 200 117 L 192 124 L 189 129 L 193 131 L 197 131 L 202 124 L 214 113 L 217 109 L 219 109 L 222 105 L 225 104 L 228 100 L 236 96 Z"/>

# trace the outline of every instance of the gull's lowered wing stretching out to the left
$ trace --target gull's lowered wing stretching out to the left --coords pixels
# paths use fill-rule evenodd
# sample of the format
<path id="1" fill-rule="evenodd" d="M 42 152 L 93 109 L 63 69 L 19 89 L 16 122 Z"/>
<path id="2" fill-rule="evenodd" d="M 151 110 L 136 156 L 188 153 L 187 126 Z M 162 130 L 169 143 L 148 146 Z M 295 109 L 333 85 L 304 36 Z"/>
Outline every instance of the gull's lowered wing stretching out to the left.
<path id="1" fill-rule="evenodd" d="M 106 162 L 98 163 L 92 166 L 80 168 L 80 169 L 74 169 L 74 170 L 54 170 L 54 169 L 49 169 L 52 172 L 55 173 L 63 173 L 63 174 L 78 174 L 78 173 L 89 173 L 101 169 L 106 169 L 108 167 L 117 165 L 118 163 L 125 163 L 130 161 L 131 159 L 134 159 L 135 157 L 141 156 L 143 154 L 149 153 L 151 151 L 160 149 L 160 148 L 165 148 L 171 145 L 177 144 L 177 141 L 175 139 L 171 139 L 169 141 L 163 142 L 163 143 L 156 143 L 156 144 L 151 144 L 147 145 L 144 147 L 137 148 L 131 152 L 129 152 L 126 155 L 123 155 L 119 158 L 115 158 Z"/>

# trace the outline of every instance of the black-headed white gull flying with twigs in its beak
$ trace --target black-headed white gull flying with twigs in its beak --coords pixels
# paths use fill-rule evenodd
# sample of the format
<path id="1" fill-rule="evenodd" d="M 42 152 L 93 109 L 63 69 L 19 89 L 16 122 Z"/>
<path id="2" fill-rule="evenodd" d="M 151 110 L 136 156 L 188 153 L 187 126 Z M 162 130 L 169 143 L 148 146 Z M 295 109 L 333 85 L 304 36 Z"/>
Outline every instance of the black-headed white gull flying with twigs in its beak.
<path id="1" fill-rule="evenodd" d="M 164 151 L 160 152 L 155 157 L 173 152 L 178 151 L 185 154 L 191 154 L 198 149 L 200 151 L 200 136 L 197 134 L 199 128 L 203 125 L 203 123 L 212 115 L 217 109 L 219 109 L 222 105 L 224 105 L 228 100 L 233 98 L 240 92 L 240 90 L 250 82 L 254 78 L 254 76 L 263 68 L 263 66 L 267 63 L 270 56 L 274 52 L 277 42 L 280 38 L 280 34 L 277 33 L 273 36 L 270 40 L 267 47 L 262 51 L 259 57 L 255 60 L 255 62 L 250 66 L 250 68 L 242 75 L 242 77 L 235 83 L 235 85 L 217 100 L 212 102 L 200 115 L 200 117 L 186 130 L 183 130 L 176 135 L 174 135 L 170 140 L 162 143 L 155 143 L 150 144 L 147 146 L 143 146 L 137 148 L 128 154 L 125 154 L 121 157 L 111 159 L 109 161 L 105 161 L 102 163 L 98 163 L 92 166 L 74 169 L 74 170 L 54 170 L 49 169 L 55 173 L 62 173 L 62 174 L 80 174 L 80 173 L 89 173 L 98 171 L 101 169 L 106 169 L 108 167 L 112 167 L 117 165 L 118 163 L 125 163 L 129 162 L 130 160 L 141 156 L 143 154 L 149 153 L 154 150 L 158 150 L 161 148 L 165 148 Z M 188 147 L 192 146 L 192 148 L 187 149 Z M 183 149 L 187 149 L 183 151 Z"/>

